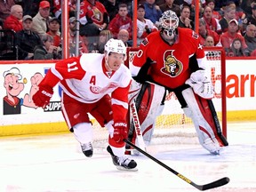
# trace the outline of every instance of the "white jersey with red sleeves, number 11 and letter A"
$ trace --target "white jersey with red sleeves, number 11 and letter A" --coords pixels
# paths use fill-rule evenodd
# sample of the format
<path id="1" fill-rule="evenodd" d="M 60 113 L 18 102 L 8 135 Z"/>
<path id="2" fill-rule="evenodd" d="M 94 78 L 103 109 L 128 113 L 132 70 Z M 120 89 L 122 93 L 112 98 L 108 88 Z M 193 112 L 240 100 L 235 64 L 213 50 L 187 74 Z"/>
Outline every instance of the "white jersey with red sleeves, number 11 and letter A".
<path id="1" fill-rule="evenodd" d="M 104 95 L 112 94 L 112 105 L 116 103 L 128 108 L 128 99 L 124 96 L 128 94 L 131 80 L 131 72 L 124 65 L 109 73 L 104 54 L 84 53 L 81 57 L 57 62 L 41 84 L 54 87 L 60 82 L 68 96 L 84 103 L 94 103 Z"/>

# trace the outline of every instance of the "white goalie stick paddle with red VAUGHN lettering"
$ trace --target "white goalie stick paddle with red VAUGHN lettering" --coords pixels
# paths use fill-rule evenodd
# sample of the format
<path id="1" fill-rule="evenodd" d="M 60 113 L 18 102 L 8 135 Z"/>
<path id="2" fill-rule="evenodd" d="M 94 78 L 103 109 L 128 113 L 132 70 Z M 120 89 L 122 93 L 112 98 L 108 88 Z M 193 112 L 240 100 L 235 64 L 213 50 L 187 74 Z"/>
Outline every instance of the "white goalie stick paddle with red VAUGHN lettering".
<path id="1" fill-rule="evenodd" d="M 132 120 L 133 120 L 133 125 L 134 125 L 134 128 L 135 128 L 135 132 L 136 132 L 136 136 L 137 136 L 136 138 L 138 140 L 138 144 L 139 144 L 140 148 L 146 149 L 146 146 L 145 146 L 145 143 L 144 143 L 144 140 L 143 140 L 143 137 L 142 137 L 142 132 L 141 132 L 141 129 L 140 129 L 140 120 L 139 120 L 139 116 L 138 116 L 138 112 L 137 112 L 134 100 L 132 100 L 132 102 L 130 104 L 130 108 L 132 110 Z"/>

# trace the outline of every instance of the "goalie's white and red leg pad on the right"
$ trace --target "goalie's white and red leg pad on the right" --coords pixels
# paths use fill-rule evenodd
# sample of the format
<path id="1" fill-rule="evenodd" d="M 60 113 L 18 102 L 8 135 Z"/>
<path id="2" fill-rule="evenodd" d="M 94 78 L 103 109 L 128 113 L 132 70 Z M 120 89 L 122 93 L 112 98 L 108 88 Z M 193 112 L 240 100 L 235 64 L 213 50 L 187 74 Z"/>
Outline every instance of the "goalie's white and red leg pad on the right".
<path id="1" fill-rule="evenodd" d="M 210 153 L 219 154 L 224 145 L 219 140 L 207 100 L 196 95 L 192 88 L 182 91 L 182 96 L 188 104 L 184 112 L 192 118 L 200 144 Z"/>

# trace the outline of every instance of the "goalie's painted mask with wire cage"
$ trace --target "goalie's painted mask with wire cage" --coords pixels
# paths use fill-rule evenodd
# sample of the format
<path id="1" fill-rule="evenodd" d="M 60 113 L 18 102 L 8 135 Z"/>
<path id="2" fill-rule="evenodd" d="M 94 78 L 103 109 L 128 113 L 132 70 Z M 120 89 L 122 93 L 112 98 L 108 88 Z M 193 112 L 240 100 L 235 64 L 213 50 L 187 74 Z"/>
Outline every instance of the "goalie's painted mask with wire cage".
<path id="1" fill-rule="evenodd" d="M 173 36 L 175 29 L 179 26 L 179 18 L 175 12 L 168 10 L 162 14 L 160 18 L 160 28 L 164 30 L 167 36 Z"/>

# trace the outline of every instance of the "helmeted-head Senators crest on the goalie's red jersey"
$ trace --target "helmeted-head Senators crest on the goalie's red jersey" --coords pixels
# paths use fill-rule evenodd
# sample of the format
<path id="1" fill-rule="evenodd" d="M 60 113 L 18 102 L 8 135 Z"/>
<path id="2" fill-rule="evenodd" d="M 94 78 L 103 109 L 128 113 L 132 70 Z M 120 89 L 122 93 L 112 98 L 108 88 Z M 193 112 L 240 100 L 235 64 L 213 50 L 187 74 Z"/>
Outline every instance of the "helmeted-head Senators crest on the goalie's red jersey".
<path id="1" fill-rule="evenodd" d="M 164 52 L 164 68 L 161 71 L 171 77 L 179 76 L 182 71 L 182 63 L 173 56 L 174 50 Z"/>

